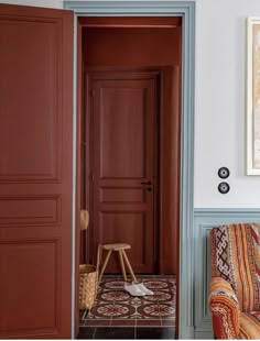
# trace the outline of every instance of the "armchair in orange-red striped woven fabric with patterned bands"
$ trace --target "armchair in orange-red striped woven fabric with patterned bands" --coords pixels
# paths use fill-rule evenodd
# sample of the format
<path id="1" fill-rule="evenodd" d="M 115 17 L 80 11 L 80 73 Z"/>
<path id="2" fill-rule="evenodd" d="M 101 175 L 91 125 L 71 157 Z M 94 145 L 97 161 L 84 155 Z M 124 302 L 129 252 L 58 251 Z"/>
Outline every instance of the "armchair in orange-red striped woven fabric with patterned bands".
<path id="1" fill-rule="evenodd" d="M 209 308 L 217 339 L 260 339 L 260 223 L 210 231 Z"/>

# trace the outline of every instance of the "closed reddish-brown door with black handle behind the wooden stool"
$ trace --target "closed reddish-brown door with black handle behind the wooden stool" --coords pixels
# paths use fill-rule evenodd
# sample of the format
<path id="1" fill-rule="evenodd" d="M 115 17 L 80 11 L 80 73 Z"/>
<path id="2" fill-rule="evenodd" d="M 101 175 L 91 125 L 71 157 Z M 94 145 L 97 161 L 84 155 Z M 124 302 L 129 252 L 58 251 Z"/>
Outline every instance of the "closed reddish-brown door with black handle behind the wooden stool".
<path id="1" fill-rule="evenodd" d="M 104 73 L 88 77 L 93 122 L 94 250 L 129 243 L 137 273 L 154 271 L 154 120 L 156 77 Z M 108 272 L 118 272 L 113 257 Z"/>

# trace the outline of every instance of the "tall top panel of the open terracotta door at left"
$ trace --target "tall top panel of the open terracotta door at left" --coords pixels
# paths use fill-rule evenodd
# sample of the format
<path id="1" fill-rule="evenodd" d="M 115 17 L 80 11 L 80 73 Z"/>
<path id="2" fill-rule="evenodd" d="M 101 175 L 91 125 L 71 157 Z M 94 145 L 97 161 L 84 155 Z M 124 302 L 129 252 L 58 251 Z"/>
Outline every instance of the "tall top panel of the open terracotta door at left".
<path id="1" fill-rule="evenodd" d="M 57 42 L 62 21 L 9 19 L 1 20 L 0 28 L 1 52 L 4 52 L 0 66 L 4 76 L 0 103 L 4 116 L 0 128 L 1 155 L 9 146 L 0 180 L 58 182 L 62 94 L 57 94 L 57 89 L 62 63 Z M 22 162 L 24 160 L 26 162 Z"/>

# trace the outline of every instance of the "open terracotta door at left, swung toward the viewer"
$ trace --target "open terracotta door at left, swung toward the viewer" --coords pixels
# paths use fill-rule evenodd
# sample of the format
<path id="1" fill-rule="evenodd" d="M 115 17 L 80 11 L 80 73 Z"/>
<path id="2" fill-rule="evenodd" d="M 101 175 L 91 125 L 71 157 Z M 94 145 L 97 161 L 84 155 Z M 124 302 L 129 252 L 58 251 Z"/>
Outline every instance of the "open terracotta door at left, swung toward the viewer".
<path id="1" fill-rule="evenodd" d="M 71 338 L 73 14 L 0 4 L 0 338 Z"/>

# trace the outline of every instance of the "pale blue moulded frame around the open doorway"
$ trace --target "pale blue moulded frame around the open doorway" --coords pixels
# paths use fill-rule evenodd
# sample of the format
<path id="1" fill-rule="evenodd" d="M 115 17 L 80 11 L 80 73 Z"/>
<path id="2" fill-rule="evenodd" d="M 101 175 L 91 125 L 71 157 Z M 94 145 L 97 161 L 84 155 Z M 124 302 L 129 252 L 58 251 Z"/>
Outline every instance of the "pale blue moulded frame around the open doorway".
<path id="1" fill-rule="evenodd" d="M 194 117 L 195 117 L 195 0 L 193 1 L 100 1 L 64 0 L 74 11 L 74 121 L 73 121 L 73 271 L 72 338 L 75 337 L 76 257 L 76 158 L 77 158 L 77 21 L 78 16 L 180 15 L 182 34 L 182 110 L 181 110 L 181 193 L 180 193 L 180 272 L 178 338 L 194 339 Z"/>

